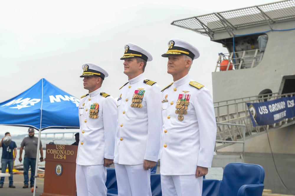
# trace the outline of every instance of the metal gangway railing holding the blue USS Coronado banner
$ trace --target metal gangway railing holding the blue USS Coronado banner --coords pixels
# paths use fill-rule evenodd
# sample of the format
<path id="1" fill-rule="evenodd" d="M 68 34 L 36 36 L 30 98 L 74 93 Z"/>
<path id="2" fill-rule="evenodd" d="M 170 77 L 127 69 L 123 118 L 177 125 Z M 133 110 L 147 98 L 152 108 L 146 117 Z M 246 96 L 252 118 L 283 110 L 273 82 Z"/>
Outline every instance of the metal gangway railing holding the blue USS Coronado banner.
<path id="1" fill-rule="evenodd" d="M 266 133 L 266 131 L 295 124 L 295 117 L 282 119 L 280 122 L 269 125 L 253 127 L 247 102 L 265 102 L 281 97 L 294 97 L 295 93 L 278 94 L 269 93 L 240 99 L 230 99 L 214 102 L 217 122 L 217 135 L 215 150 L 235 143 L 244 143 L 245 139 Z M 243 152 L 244 152 L 243 147 Z"/>

